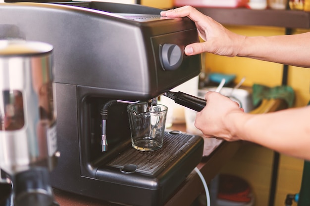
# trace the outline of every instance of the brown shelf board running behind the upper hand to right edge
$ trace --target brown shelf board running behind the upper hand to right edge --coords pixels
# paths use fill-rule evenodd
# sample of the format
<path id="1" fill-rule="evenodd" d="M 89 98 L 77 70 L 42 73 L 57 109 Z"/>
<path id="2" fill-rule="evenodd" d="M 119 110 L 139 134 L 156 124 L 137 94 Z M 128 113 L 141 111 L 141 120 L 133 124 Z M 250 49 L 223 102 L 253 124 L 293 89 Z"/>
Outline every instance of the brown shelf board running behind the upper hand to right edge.
<path id="1" fill-rule="evenodd" d="M 196 7 L 221 24 L 310 28 L 310 12 L 298 10 L 255 10 L 248 8 Z"/>

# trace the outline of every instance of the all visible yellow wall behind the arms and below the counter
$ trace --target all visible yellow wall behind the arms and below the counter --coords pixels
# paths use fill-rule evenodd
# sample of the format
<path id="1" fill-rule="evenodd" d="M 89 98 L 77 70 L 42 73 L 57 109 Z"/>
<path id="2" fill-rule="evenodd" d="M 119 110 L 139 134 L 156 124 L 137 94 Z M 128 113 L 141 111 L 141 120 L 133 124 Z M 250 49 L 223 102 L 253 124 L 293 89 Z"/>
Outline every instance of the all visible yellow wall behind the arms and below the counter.
<path id="1" fill-rule="evenodd" d="M 283 35 L 283 28 L 273 27 L 240 27 L 226 26 L 229 30 L 247 36 Z M 295 33 L 306 30 L 294 31 Z M 206 54 L 206 69 L 208 72 L 236 74 L 236 82 L 246 77 L 244 85 L 252 86 L 260 83 L 267 86 L 281 85 L 283 65 L 263 62 L 241 57 L 222 57 Z M 310 69 L 289 67 L 288 85 L 294 88 L 296 94 L 295 107 L 307 105 L 310 100 Z M 246 179 L 253 187 L 256 196 L 256 206 L 267 206 L 271 177 L 273 151 L 258 145 L 249 144 L 243 147 L 232 158 L 228 165 L 222 168 L 222 173 L 232 173 Z M 288 193 L 299 192 L 303 170 L 303 161 L 280 156 L 277 192 L 275 206 L 284 205 Z"/>

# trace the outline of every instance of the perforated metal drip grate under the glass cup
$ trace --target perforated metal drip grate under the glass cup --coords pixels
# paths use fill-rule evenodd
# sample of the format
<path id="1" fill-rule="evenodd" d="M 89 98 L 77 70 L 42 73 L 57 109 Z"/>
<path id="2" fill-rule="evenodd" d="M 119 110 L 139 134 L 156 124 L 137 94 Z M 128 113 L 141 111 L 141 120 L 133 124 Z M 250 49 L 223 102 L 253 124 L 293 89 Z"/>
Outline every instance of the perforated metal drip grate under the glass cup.
<path id="1" fill-rule="evenodd" d="M 194 138 L 195 135 L 183 134 L 179 131 L 165 132 L 162 148 L 144 152 L 131 147 L 108 165 L 120 169 L 135 165 L 136 172 L 153 175 L 180 156 L 182 149 L 189 146 Z"/>

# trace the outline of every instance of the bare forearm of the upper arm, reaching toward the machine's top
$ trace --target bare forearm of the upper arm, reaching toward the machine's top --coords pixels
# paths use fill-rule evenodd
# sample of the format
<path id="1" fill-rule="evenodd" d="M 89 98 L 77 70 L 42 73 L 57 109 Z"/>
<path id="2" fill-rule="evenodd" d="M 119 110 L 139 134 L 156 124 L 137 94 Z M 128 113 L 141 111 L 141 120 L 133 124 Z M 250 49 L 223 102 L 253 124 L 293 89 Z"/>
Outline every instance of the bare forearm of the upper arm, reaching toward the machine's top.
<path id="1" fill-rule="evenodd" d="M 310 33 L 272 37 L 246 37 L 237 56 L 310 67 Z"/>

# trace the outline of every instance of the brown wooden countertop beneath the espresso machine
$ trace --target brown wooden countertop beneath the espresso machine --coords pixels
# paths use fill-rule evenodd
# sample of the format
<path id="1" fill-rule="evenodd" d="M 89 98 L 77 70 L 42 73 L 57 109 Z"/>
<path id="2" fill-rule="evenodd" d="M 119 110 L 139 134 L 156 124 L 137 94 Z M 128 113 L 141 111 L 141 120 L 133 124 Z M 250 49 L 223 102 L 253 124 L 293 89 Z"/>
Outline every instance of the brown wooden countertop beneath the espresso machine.
<path id="1" fill-rule="evenodd" d="M 174 124 L 170 129 L 185 132 L 185 124 Z M 207 183 L 218 173 L 221 166 L 229 161 L 242 144 L 241 141 L 222 142 L 209 156 L 202 159 L 197 167 L 204 175 Z M 193 171 L 164 206 L 189 206 L 203 189 L 200 177 Z M 58 189 L 53 189 L 53 191 L 55 200 L 60 206 L 119 206 Z"/>

